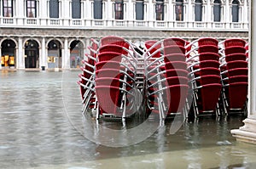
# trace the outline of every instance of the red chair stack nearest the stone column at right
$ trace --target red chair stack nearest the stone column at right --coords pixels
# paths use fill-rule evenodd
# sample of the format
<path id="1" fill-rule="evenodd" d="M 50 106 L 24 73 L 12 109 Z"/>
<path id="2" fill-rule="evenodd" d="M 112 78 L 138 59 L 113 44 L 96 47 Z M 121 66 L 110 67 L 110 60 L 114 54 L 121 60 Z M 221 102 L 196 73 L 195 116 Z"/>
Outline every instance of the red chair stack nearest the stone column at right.
<path id="1" fill-rule="evenodd" d="M 224 112 L 247 114 L 247 48 L 239 38 L 221 42 L 222 64 L 220 67 L 223 83 Z"/>

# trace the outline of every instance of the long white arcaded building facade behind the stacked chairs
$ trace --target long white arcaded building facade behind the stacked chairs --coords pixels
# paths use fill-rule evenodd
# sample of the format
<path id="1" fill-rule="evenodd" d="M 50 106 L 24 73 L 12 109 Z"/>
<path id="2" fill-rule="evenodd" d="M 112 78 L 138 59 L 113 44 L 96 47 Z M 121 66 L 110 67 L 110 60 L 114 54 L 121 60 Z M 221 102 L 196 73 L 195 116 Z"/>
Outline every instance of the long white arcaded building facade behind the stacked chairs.
<path id="1" fill-rule="evenodd" d="M 0 0 L 0 69 L 78 68 L 90 38 L 248 39 L 247 0 Z"/>

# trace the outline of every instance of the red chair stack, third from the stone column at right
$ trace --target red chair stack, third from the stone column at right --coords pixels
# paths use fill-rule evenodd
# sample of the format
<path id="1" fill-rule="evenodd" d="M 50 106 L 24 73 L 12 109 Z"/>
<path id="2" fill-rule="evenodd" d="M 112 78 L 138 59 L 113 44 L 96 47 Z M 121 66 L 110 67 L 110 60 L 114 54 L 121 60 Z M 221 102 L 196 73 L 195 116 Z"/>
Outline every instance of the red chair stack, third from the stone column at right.
<path id="1" fill-rule="evenodd" d="M 189 85 L 184 46 L 182 38 L 166 38 L 154 42 L 144 55 L 147 109 L 160 121 L 185 113 Z"/>

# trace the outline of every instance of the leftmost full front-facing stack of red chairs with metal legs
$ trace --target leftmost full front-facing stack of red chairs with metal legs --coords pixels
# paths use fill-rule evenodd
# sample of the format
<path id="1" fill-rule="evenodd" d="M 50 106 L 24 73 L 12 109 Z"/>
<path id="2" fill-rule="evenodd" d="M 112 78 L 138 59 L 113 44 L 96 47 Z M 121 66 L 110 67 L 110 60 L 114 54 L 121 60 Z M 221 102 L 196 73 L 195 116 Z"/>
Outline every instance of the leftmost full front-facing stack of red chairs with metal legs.
<path id="1" fill-rule="evenodd" d="M 137 59 L 122 37 L 102 37 L 96 56 L 95 91 L 97 115 L 125 118 L 136 109 Z"/>

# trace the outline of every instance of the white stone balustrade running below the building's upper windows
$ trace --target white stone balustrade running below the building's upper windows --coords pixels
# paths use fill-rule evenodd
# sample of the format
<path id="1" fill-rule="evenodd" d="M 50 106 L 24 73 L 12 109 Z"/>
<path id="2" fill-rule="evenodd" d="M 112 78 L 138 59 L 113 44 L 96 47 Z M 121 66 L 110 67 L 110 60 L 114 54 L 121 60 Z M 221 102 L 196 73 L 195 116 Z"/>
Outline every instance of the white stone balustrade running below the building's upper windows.
<path id="1" fill-rule="evenodd" d="M 166 31 L 248 31 L 248 23 L 241 22 L 188 22 L 160 20 L 83 20 L 83 19 L 31 19 L 0 17 L 0 27 L 19 27 L 38 25 L 42 27 L 60 27 L 68 29 L 91 28 L 124 28 L 151 29 Z"/>

